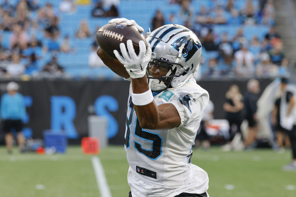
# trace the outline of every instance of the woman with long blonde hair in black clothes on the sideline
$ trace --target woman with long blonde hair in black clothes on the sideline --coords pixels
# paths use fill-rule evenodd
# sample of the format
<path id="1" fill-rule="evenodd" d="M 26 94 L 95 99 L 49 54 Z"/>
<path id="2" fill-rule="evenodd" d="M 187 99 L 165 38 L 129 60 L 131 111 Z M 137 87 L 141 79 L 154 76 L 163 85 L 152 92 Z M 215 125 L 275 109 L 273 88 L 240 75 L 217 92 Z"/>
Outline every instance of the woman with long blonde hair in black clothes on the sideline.
<path id="1" fill-rule="evenodd" d="M 226 101 L 223 109 L 229 123 L 229 141 L 231 142 L 236 133 L 241 133 L 242 111 L 244 109 L 243 96 L 237 85 L 229 87 L 225 94 Z"/>

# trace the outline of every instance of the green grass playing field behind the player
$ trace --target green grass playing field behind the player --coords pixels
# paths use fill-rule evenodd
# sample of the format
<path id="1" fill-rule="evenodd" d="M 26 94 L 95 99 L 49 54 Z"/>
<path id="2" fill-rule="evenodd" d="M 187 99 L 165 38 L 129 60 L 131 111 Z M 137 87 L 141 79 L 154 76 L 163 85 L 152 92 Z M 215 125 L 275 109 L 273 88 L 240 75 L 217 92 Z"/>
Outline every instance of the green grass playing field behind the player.
<path id="1" fill-rule="evenodd" d="M 98 156 L 112 196 L 127 197 L 128 163 L 123 146 L 110 146 Z M 69 147 L 65 155 L 20 155 L 17 149 L 7 155 L 5 147 L 0 147 L 0 196 L 98 197 L 91 158 L 80 147 Z M 289 161 L 290 151 L 277 154 L 271 150 L 194 149 L 192 157 L 192 163 L 208 172 L 211 197 L 295 197 L 296 172 L 281 171 Z"/>

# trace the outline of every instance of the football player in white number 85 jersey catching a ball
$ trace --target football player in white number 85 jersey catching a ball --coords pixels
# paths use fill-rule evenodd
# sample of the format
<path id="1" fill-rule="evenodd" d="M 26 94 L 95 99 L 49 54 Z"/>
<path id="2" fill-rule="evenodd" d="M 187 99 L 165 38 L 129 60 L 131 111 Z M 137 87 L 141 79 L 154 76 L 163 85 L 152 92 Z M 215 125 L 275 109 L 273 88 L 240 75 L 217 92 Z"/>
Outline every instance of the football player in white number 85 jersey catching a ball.
<path id="1" fill-rule="evenodd" d="M 125 22 L 143 32 L 134 20 Z M 139 42 L 120 44 L 118 60 L 97 54 L 116 74 L 131 81 L 125 130 L 130 197 L 207 197 L 208 174 L 191 164 L 192 146 L 209 94 L 196 84 L 201 44 L 181 25 L 164 25 Z"/>

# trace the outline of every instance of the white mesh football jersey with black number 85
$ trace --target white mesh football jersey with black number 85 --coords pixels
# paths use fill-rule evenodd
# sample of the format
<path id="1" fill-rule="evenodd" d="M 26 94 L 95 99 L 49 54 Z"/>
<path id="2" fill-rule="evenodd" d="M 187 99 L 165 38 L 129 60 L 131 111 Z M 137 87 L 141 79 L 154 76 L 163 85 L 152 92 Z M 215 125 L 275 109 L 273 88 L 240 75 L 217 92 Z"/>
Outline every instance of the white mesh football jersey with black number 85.
<path id="1" fill-rule="evenodd" d="M 208 190 L 208 174 L 191 164 L 192 146 L 208 101 L 208 92 L 193 78 L 181 87 L 160 92 L 154 96 L 156 105 L 173 104 L 181 123 L 169 130 L 150 130 L 140 127 L 129 96 L 124 142 L 133 197 L 171 197 Z"/>

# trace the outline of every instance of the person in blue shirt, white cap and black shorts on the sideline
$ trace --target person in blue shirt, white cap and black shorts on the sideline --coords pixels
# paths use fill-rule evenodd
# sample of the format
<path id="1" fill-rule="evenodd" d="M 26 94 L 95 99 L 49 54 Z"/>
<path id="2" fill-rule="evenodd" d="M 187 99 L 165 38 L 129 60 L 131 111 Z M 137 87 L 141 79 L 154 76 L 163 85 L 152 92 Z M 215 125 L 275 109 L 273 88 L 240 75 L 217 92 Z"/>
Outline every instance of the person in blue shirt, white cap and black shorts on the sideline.
<path id="1" fill-rule="evenodd" d="M 3 130 L 6 133 L 5 143 L 8 153 L 12 151 L 13 135 L 12 129 L 17 132 L 17 141 L 20 152 L 23 152 L 24 136 L 22 134 L 23 120 L 26 116 L 26 107 L 23 95 L 18 92 L 19 85 L 16 82 L 7 84 L 7 93 L 1 98 L 1 120 Z"/>

